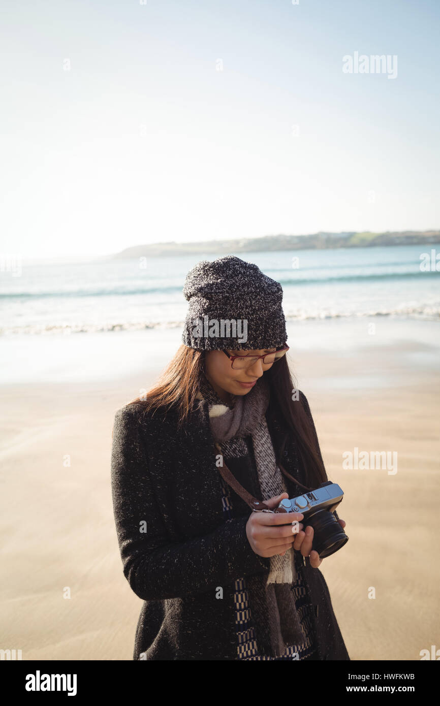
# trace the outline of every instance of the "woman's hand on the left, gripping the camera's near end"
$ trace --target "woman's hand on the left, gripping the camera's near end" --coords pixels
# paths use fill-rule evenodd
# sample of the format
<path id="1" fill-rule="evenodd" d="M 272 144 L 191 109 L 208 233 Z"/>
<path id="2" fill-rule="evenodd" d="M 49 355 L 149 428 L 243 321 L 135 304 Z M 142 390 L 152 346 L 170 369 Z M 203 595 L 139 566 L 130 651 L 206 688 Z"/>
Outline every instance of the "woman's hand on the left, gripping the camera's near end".
<path id="1" fill-rule="evenodd" d="M 270 510 L 275 510 L 288 493 L 269 498 L 264 502 Z M 264 513 L 253 512 L 246 523 L 246 536 L 255 554 L 264 557 L 283 556 L 291 549 L 299 530 L 302 530 L 302 513 Z M 286 525 L 286 522 L 289 522 Z M 284 526 L 280 526 L 284 525 Z"/>

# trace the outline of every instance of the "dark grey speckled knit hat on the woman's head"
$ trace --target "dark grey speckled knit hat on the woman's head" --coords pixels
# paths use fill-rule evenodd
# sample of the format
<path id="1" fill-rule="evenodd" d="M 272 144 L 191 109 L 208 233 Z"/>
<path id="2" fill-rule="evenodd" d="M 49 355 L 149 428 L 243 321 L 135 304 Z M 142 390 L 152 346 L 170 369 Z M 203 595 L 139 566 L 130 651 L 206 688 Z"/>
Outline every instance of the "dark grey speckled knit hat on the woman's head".
<path id="1" fill-rule="evenodd" d="M 280 282 L 234 255 L 202 260 L 186 275 L 182 341 L 198 350 L 260 350 L 285 344 Z"/>

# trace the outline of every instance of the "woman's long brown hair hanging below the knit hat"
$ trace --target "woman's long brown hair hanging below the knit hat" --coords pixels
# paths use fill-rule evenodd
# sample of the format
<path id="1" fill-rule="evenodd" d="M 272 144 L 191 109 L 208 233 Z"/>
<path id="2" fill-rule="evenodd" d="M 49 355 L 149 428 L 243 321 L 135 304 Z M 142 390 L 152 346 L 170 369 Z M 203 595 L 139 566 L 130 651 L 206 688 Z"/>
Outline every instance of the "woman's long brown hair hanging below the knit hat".
<path id="1" fill-rule="evenodd" d="M 140 395 L 127 404 L 141 403 L 144 414 L 150 409 L 153 409 L 153 414 L 161 409 L 166 415 L 167 409 L 174 407 L 178 410 L 178 427 L 182 428 L 196 402 L 196 394 L 204 376 L 204 358 L 205 351 L 180 345 L 154 387 L 145 396 Z M 326 470 L 311 419 L 299 400 L 292 403 L 292 393 L 297 390 L 297 384 L 290 372 L 287 354 L 264 374 L 270 385 L 268 426 L 271 428 L 276 416 L 277 419 L 282 418 L 287 428 L 277 457 L 283 454 L 289 433 L 292 433 L 304 468 L 304 484 L 316 488 L 327 480 Z"/>

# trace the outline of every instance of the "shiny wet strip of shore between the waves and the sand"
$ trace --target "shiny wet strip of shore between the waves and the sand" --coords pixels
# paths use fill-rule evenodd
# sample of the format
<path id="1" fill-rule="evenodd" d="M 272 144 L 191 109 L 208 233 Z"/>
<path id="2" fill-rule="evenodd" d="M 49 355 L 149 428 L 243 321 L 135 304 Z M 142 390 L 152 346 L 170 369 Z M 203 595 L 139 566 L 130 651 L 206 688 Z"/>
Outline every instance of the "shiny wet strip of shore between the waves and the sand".
<path id="1" fill-rule="evenodd" d="M 297 365 L 302 368 L 310 356 L 370 356 L 382 366 L 380 359 L 386 362 L 388 352 L 394 350 L 399 353 L 396 363 L 402 368 L 404 362 L 405 370 L 408 364 L 414 369 L 421 364 L 436 369 L 440 357 L 440 326 L 431 321 L 296 321 L 287 322 L 286 330 L 287 356 L 294 369 Z M 157 376 L 182 345 L 181 335 L 180 328 L 165 328 L 4 339 L 0 386 L 35 381 L 111 385 L 116 379 Z"/>

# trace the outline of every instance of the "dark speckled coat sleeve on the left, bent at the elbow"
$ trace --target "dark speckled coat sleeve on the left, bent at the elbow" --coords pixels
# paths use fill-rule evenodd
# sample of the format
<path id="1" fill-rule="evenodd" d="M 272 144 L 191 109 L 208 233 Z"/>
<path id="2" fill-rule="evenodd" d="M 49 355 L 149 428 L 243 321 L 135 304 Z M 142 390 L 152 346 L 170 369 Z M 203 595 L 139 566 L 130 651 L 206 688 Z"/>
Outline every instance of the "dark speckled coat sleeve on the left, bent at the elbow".
<path id="1" fill-rule="evenodd" d="M 270 558 L 255 554 L 247 539 L 249 517 L 229 520 L 203 537 L 170 543 L 155 503 L 157 489 L 148 472 L 138 414 L 129 406 L 114 417 L 111 477 L 124 576 L 139 598 L 215 591 L 244 575 L 269 570 Z"/>

